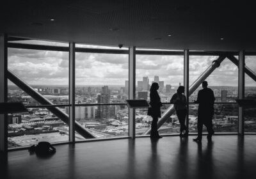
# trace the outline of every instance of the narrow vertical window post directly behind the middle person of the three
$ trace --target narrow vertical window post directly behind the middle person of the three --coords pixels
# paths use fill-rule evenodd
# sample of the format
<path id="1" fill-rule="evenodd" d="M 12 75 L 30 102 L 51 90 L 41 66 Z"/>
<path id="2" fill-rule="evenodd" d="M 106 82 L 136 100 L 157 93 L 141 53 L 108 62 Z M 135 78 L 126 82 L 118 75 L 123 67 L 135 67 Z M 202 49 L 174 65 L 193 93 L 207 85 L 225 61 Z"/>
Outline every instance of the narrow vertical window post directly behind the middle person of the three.
<path id="1" fill-rule="evenodd" d="M 184 95 L 186 96 L 187 104 L 188 104 L 189 102 L 189 50 L 184 50 L 184 88 L 185 88 Z M 186 117 L 187 127 L 189 125 L 189 118 L 188 118 L 189 107 L 188 106 L 189 105 L 187 105 L 187 117 Z"/>

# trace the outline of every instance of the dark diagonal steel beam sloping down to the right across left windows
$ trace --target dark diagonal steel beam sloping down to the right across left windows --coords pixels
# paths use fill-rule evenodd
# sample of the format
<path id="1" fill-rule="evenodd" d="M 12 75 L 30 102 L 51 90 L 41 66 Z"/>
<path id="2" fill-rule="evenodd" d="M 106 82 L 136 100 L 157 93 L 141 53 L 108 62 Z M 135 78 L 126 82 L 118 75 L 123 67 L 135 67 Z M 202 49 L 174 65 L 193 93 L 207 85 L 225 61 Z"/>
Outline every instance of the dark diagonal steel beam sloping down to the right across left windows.
<path id="1" fill-rule="evenodd" d="M 43 105 L 52 105 L 52 102 L 49 101 L 47 98 L 42 96 L 40 93 L 35 91 L 35 89 L 31 88 L 29 84 L 22 81 L 17 75 L 10 72 L 10 70 L 7 70 L 7 78 L 10 79 L 14 84 L 16 84 L 20 89 L 28 93 L 29 96 L 37 100 L 40 104 Z M 51 111 L 52 114 L 56 115 L 58 118 L 63 120 L 65 123 L 68 124 L 68 114 L 63 113 L 63 111 L 60 110 L 59 107 L 46 107 L 49 111 Z M 79 122 L 75 121 L 75 130 L 84 138 L 91 139 L 95 138 L 93 134 L 91 134 L 86 128 L 84 128 Z"/>

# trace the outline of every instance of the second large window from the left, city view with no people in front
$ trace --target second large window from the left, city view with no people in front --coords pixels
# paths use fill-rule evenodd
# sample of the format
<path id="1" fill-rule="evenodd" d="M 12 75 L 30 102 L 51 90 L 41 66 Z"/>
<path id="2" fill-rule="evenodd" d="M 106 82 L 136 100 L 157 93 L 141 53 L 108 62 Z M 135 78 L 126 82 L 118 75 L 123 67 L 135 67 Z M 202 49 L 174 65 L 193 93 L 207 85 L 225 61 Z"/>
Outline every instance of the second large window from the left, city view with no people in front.
<path id="1" fill-rule="evenodd" d="M 125 104 L 128 74 L 128 54 L 76 52 L 76 121 L 95 137 L 128 135 L 127 106 L 108 105 Z"/>

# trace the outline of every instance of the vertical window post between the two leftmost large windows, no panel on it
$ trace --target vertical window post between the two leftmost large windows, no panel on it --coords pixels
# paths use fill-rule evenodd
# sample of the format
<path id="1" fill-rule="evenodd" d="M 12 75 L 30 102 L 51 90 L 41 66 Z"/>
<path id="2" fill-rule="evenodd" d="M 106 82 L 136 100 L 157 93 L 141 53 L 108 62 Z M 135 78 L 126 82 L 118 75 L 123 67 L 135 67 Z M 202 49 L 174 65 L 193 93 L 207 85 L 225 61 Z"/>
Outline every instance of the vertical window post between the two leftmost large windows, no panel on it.
<path id="1" fill-rule="evenodd" d="M 69 141 L 75 142 L 75 74 L 76 74 L 76 43 L 69 43 Z"/>

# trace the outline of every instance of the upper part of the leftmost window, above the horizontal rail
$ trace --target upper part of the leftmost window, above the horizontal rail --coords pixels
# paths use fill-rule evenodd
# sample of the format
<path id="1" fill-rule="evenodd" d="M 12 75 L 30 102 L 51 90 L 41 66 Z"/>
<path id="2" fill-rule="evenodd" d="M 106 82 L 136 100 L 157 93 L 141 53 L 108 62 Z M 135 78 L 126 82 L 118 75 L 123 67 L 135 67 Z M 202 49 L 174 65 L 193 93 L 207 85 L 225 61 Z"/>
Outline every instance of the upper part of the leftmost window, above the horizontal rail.
<path id="1" fill-rule="evenodd" d="M 68 52 L 8 48 L 8 70 L 52 104 L 68 104 Z M 13 91 L 21 92 L 8 81 L 8 100 L 19 100 Z M 29 94 L 20 97 L 26 105 L 40 105 Z"/>

